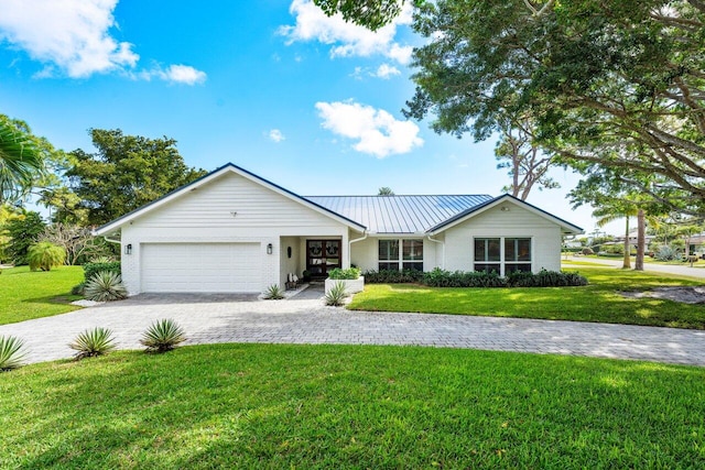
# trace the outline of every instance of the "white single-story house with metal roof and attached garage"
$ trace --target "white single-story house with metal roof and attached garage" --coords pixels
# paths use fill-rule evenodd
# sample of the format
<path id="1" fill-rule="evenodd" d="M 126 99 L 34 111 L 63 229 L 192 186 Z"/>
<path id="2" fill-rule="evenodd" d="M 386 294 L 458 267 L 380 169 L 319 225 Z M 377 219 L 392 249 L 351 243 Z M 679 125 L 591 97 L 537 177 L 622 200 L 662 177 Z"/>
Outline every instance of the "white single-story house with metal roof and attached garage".
<path id="1" fill-rule="evenodd" d="M 561 269 L 582 229 L 509 195 L 300 196 L 231 163 L 96 230 L 130 295 L 254 293 L 307 270 Z"/>

